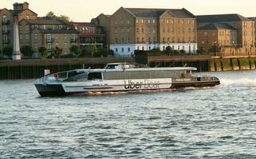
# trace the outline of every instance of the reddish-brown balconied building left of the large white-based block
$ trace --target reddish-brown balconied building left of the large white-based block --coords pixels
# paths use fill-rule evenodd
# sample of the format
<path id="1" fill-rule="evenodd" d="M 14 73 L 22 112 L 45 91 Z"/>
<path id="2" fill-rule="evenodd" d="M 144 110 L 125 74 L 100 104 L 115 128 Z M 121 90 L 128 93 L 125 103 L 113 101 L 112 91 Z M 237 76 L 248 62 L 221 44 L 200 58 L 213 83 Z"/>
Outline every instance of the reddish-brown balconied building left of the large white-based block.
<path id="1" fill-rule="evenodd" d="M 97 48 L 103 48 L 105 35 L 102 26 L 96 25 L 93 22 L 71 22 L 70 25 L 73 26 L 73 29 L 77 30 L 77 43 L 81 47 L 93 44 Z"/>

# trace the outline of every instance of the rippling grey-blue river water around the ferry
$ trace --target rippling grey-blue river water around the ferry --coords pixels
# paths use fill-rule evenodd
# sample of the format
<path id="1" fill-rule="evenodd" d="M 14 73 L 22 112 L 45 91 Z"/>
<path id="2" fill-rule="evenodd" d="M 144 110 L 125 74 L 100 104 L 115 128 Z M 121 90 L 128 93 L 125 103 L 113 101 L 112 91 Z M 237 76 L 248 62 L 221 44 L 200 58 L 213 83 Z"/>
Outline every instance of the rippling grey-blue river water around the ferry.
<path id="1" fill-rule="evenodd" d="M 256 158 L 256 71 L 213 88 L 41 98 L 0 81 L 0 158 Z"/>

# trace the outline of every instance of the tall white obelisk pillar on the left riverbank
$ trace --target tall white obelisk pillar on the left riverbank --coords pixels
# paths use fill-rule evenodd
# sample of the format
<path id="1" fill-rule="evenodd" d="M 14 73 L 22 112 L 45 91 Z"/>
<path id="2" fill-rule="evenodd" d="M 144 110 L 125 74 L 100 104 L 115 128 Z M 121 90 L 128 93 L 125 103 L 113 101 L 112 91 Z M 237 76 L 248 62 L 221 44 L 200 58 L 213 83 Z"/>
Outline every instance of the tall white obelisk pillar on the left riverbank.
<path id="1" fill-rule="evenodd" d="M 13 60 L 21 60 L 20 38 L 18 33 L 18 17 L 14 17 L 14 52 Z"/>

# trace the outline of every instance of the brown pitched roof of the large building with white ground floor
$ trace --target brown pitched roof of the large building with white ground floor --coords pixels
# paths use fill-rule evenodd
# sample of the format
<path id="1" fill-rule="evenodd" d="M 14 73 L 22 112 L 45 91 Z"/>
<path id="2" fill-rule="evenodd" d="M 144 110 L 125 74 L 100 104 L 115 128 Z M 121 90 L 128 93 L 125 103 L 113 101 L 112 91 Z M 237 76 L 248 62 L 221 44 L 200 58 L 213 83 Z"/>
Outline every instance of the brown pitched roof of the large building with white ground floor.
<path id="1" fill-rule="evenodd" d="M 148 8 L 124 8 L 135 17 L 160 17 L 168 12 L 172 17 L 195 17 L 186 9 L 148 9 Z"/>

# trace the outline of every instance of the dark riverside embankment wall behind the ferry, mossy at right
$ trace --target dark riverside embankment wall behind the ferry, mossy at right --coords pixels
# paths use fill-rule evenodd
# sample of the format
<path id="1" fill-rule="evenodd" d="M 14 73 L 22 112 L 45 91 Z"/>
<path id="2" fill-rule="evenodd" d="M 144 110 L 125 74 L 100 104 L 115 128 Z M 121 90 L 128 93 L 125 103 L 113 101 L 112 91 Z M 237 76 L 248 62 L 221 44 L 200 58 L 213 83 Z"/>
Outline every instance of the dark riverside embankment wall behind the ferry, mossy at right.
<path id="1" fill-rule="evenodd" d="M 146 58 L 146 59 L 145 59 Z M 195 67 L 198 72 L 222 72 L 255 69 L 256 56 L 147 56 L 140 58 L 81 58 L 46 60 L 0 60 L 0 80 L 37 79 L 44 70 L 51 73 L 81 68 L 104 68 L 108 63 L 144 61 L 150 67 Z"/>

